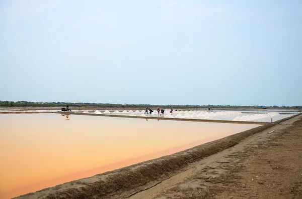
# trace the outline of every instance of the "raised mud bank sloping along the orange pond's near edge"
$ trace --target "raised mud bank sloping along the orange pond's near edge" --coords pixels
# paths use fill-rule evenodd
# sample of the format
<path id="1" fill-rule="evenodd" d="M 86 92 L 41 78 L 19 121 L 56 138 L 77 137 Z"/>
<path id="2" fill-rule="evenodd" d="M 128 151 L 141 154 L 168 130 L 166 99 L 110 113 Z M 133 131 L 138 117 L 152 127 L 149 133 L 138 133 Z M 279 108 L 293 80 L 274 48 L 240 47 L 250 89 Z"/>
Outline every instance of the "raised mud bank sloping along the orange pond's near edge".
<path id="1" fill-rule="evenodd" d="M 17 198 L 114 198 L 117 195 L 121 198 L 129 197 L 144 190 L 146 185 L 152 187 L 170 178 L 190 163 L 232 147 L 241 140 L 290 118 L 208 142 L 169 156 L 67 182 Z"/>

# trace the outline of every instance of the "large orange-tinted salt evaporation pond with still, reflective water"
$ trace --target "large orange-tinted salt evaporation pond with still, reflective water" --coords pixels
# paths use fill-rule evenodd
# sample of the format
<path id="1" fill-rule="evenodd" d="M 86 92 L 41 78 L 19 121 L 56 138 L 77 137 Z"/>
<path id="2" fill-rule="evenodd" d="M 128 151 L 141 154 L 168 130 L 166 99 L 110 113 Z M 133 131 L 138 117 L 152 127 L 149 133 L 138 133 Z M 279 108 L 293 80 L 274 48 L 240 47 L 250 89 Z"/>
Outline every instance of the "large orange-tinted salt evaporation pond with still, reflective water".
<path id="1" fill-rule="evenodd" d="M 173 154 L 257 126 L 0 114 L 0 198 Z"/>

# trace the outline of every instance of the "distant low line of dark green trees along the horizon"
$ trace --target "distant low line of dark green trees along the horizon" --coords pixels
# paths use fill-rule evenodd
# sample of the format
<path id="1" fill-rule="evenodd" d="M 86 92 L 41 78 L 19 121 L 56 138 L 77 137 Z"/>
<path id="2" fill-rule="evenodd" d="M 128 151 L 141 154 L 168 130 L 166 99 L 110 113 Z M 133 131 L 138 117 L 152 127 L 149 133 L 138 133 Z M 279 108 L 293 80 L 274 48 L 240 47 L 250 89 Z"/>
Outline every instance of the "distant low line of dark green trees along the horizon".
<path id="1" fill-rule="evenodd" d="M 62 107 L 62 106 L 97 106 L 97 107 L 112 107 L 112 108 L 126 108 L 126 107 L 146 107 L 146 106 L 160 106 L 160 107 L 186 107 L 186 108 L 261 108 L 261 106 L 237 106 L 237 105 L 172 105 L 172 104 L 110 104 L 110 103 L 83 103 L 83 102 L 29 102 L 29 101 L 0 101 L 1 107 Z M 302 108 L 302 106 L 268 106 L 268 108 Z"/>

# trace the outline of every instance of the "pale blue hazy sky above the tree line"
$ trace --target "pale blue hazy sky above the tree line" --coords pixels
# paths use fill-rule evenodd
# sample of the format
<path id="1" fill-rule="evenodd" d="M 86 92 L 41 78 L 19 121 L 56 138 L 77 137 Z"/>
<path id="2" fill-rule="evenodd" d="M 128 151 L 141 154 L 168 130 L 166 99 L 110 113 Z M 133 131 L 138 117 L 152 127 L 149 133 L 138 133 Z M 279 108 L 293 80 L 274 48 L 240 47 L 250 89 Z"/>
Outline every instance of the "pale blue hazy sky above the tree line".
<path id="1" fill-rule="evenodd" d="M 302 1 L 0 1 L 0 100 L 302 105 Z"/>

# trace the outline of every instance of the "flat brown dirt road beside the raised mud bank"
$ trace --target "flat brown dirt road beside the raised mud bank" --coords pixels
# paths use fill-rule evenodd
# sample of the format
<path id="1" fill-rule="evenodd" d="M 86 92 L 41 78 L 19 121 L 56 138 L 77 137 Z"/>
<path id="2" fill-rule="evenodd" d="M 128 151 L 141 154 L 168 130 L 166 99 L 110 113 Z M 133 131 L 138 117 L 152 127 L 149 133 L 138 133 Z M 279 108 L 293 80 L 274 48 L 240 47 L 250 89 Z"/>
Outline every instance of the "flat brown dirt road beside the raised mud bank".
<path id="1" fill-rule="evenodd" d="M 129 198 L 302 198 L 301 118 L 255 134 Z"/>

